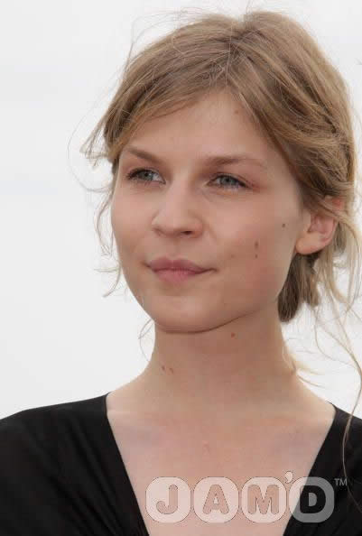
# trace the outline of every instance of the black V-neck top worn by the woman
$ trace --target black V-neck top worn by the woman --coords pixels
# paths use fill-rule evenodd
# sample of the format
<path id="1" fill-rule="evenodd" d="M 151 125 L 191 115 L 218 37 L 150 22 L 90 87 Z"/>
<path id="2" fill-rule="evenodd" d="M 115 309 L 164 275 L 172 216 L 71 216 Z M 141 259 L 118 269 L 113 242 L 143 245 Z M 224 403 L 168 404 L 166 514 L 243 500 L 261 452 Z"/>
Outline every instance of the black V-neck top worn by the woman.
<path id="1" fill-rule="evenodd" d="M 107 418 L 107 394 L 0 419 L 1 536 L 148 536 Z M 332 513 L 323 522 L 302 522 L 292 515 L 281 536 L 362 536 L 362 513 L 348 497 L 341 461 L 349 414 L 334 407 L 334 420 L 309 475 L 330 482 Z M 362 509 L 361 439 L 362 419 L 354 416 L 346 469 Z M 313 506 L 311 500 L 309 506 L 309 483 L 297 507 L 318 513 L 324 505 L 317 501 Z"/>

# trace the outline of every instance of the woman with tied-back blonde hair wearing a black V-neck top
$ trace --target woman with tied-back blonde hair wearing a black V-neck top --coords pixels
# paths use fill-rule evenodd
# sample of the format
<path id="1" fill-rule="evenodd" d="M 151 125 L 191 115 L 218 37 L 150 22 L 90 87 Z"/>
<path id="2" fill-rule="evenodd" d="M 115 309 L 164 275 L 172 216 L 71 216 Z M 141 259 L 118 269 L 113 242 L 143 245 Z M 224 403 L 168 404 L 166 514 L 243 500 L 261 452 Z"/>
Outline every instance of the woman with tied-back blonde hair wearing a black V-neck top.
<path id="1" fill-rule="evenodd" d="M 111 393 L 0 420 L 2 533 L 362 534 L 362 420 L 303 384 L 282 333 L 321 292 L 350 303 L 337 69 L 283 14 L 195 17 L 127 63 L 83 151 L 112 165 L 99 217 L 152 358 Z"/>

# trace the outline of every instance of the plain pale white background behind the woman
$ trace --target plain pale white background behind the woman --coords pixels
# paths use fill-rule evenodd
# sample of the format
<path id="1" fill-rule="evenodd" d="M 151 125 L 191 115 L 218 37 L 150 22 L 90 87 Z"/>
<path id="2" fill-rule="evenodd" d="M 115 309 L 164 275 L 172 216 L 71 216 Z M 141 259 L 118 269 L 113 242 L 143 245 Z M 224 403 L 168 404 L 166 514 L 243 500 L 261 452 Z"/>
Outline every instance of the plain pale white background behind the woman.
<path id="1" fill-rule="evenodd" d="M 96 272 L 101 260 L 93 217 L 99 198 L 90 198 L 78 182 L 98 186 L 110 170 L 91 171 L 79 147 L 106 110 L 133 40 L 138 50 L 169 30 L 171 10 L 242 14 L 246 4 L 13 0 L 3 7 L 0 417 L 107 393 L 144 369 L 153 329 L 140 343 L 148 316 L 130 291 L 124 293 L 124 279 L 111 297 L 102 297 L 114 280 Z M 283 8 L 314 32 L 347 79 L 362 117 L 360 0 L 251 6 Z M 361 328 L 359 322 L 348 328 L 357 357 Z M 322 331 L 320 349 L 315 346 L 312 317 L 286 328 L 285 337 L 311 365 L 320 349 L 330 356 L 319 365 L 316 381 L 323 387 L 312 389 L 351 410 L 357 373 L 333 361 L 348 361 L 348 354 Z"/>

